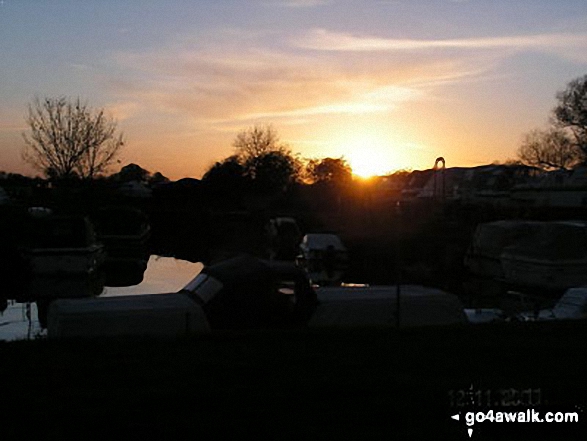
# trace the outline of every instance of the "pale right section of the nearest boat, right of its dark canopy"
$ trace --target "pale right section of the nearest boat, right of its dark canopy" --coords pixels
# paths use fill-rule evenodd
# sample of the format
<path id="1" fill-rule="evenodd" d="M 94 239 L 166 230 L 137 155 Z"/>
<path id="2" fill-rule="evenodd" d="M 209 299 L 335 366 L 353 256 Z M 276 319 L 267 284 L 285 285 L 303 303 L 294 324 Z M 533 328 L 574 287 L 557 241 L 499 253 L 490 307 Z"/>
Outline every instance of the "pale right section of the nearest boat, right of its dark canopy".
<path id="1" fill-rule="evenodd" d="M 397 287 L 323 287 L 316 289 L 318 307 L 309 326 L 395 326 Z M 418 285 L 400 286 L 400 326 L 466 323 L 463 305 L 454 294 Z"/>

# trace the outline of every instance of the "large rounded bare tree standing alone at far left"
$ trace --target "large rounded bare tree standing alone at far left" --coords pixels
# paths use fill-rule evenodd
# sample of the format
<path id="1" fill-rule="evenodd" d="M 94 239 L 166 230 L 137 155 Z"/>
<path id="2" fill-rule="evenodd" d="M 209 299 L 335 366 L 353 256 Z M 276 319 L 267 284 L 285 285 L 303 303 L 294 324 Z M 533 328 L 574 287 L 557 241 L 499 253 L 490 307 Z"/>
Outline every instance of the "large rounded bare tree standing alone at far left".
<path id="1" fill-rule="evenodd" d="M 23 158 L 49 177 L 92 179 L 104 173 L 124 145 L 116 122 L 79 98 L 36 98 L 28 106 Z"/>

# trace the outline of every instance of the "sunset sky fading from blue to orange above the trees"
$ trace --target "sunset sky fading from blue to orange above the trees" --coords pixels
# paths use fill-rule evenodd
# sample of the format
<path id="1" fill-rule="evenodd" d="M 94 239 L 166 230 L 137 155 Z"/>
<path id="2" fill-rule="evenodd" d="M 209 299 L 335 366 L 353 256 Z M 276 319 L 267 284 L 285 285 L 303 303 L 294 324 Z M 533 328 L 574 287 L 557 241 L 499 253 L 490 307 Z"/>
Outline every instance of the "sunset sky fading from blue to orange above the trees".
<path id="1" fill-rule="evenodd" d="M 515 158 L 587 74 L 585 0 L 0 1 L 0 170 L 35 97 L 80 97 L 120 164 L 200 178 L 270 124 L 357 173 Z"/>

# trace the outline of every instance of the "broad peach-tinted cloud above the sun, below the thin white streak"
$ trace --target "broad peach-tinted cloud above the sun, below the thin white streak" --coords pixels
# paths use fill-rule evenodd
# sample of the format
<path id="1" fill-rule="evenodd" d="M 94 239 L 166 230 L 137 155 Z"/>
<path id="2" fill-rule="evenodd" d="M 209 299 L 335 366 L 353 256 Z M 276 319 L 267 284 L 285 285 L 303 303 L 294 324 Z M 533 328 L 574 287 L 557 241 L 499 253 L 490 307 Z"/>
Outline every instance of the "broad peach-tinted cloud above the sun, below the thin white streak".
<path id="1" fill-rule="evenodd" d="M 478 74 L 472 66 L 432 58 L 357 64 L 258 47 L 166 48 L 121 53 L 116 62 L 136 78 L 110 82 L 125 103 L 123 114 L 136 110 L 129 102 L 139 102 L 207 125 L 391 112 L 425 99 L 441 83 Z"/>

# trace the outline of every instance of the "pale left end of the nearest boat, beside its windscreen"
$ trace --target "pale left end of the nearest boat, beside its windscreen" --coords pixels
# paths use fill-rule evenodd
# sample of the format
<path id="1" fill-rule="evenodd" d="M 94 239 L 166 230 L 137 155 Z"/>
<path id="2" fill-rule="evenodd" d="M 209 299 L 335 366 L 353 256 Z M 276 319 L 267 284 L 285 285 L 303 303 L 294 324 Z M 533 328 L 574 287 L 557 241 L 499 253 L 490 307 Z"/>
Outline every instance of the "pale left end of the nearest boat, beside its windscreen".
<path id="1" fill-rule="evenodd" d="M 58 299 L 48 314 L 48 336 L 177 337 L 210 331 L 202 308 L 185 294 Z"/>

